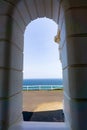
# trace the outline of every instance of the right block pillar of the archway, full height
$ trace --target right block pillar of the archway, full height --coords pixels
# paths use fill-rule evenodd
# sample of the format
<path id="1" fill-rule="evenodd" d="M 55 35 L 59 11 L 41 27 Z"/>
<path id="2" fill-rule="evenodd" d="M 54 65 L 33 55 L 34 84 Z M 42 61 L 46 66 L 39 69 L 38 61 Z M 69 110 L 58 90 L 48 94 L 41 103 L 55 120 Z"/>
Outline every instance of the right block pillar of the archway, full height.
<path id="1" fill-rule="evenodd" d="M 64 113 L 70 130 L 87 129 L 87 1 L 63 0 L 60 6 L 60 59 Z"/>

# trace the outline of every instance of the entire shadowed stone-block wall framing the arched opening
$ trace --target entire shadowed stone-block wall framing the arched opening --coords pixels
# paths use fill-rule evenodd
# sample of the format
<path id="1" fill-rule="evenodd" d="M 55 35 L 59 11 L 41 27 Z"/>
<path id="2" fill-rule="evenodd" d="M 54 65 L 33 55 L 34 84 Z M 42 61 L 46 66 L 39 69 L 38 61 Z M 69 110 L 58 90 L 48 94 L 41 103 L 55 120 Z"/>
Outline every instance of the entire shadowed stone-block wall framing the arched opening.
<path id="1" fill-rule="evenodd" d="M 59 24 L 60 60 L 64 80 L 64 112 L 70 130 L 87 130 L 87 1 L 0 1 L 0 129 L 51 129 L 52 124 L 28 128 L 22 121 L 23 35 L 38 17 Z M 14 83 L 14 84 L 12 84 Z M 85 117 L 85 118 L 84 118 Z M 19 125 L 18 125 L 19 124 Z M 49 126 L 50 125 L 50 126 Z M 49 126 L 49 127 L 48 127 Z M 52 129 L 65 129 L 55 124 Z"/>

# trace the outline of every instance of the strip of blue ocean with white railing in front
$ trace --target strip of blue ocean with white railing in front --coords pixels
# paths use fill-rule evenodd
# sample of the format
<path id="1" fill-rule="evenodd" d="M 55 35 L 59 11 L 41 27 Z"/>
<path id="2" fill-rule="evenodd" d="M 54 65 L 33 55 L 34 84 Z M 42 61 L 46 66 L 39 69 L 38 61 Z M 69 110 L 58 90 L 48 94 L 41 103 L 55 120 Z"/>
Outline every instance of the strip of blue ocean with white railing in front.
<path id="1" fill-rule="evenodd" d="M 63 89 L 62 79 L 24 79 L 24 90 L 56 90 Z"/>

